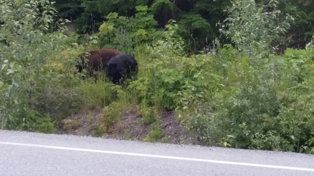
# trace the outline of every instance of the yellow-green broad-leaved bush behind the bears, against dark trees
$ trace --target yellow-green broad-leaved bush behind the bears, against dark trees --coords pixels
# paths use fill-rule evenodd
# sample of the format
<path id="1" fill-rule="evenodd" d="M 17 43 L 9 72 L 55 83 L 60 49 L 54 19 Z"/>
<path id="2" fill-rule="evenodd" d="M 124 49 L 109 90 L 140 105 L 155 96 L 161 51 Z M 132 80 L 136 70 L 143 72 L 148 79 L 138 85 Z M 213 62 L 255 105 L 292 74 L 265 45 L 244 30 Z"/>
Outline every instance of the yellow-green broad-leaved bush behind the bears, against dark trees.
<path id="1" fill-rule="evenodd" d="M 135 18 L 118 16 L 118 13 L 109 13 L 107 22 L 99 27 L 101 44 L 109 44 L 118 49 L 134 48 L 136 44 L 161 38 L 162 31 L 154 28 L 158 23 L 147 6 L 136 6 Z"/>

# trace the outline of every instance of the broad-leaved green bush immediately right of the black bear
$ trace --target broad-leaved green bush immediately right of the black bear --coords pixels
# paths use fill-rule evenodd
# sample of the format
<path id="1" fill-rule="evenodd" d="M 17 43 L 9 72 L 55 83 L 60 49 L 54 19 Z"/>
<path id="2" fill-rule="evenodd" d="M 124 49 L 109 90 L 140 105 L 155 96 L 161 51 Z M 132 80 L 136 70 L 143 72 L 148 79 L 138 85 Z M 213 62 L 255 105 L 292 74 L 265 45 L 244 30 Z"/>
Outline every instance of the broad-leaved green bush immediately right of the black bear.
<path id="1" fill-rule="evenodd" d="M 131 82 L 139 98 L 145 99 L 158 109 L 185 108 L 185 101 L 193 101 L 190 93 L 219 87 L 219 76 L 211 73 L 213 58 L 197 55 L 193 58 L 183 56 L 184 44 L 175 38 L 177 25 L 167 25 L 166 39 L 158 40 L 148 46 L 144 54 L 148 56 L 141 63 L 138 80 Z M 184 99 L 182 99 L 184 98 Z M 179 105 L 179 104 L 180 105 Z"/>

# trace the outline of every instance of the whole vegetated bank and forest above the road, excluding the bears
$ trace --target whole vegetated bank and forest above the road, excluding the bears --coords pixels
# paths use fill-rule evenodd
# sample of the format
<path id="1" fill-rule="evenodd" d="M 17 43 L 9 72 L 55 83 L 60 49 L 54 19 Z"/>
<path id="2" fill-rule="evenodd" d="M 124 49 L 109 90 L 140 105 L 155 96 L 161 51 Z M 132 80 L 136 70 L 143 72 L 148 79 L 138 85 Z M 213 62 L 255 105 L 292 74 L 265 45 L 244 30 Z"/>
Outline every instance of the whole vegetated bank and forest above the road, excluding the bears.
<path id="1" fill-rule="evenodd" d="M 0 0 L 0 129 L 313 154 L 313 8 Z M 78 55 L 101 48 L 134 54 L 138 75 L 83 77 Z"/>

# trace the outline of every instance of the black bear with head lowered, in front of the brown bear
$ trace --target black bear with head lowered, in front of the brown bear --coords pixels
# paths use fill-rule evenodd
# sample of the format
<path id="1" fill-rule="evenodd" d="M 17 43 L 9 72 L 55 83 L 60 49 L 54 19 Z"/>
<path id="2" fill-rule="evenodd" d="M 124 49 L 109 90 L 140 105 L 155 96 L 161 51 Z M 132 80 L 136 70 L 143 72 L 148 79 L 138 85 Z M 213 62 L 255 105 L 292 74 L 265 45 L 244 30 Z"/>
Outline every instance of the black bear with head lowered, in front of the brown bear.
<path id="1" fill-rule="evenodd" d="M 104 71 L 112 83 L 122 85 L 126 78 L 138 74 L 138 62 L 134 55 L 118 54 L 108 61 Z"/>

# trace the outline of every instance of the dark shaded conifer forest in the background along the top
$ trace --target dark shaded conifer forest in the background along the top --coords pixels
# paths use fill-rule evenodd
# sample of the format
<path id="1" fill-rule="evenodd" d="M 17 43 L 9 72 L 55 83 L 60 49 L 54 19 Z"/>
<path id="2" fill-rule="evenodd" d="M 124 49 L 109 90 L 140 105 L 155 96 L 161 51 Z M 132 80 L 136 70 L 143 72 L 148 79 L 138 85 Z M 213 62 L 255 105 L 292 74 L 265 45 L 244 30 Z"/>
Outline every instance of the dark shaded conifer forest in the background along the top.
<path id="1" fill-rule="evenodd" d="M 106 22 L 114 22 L 115 27 L 122 28 L 133 39 L 135 34 L 147 35 L 143 42 L 154 37 L 153 32 L 165 28 L 167 22 L 175 20 L 179 26 L 178 34 L 189 45 L 189 50 L 197 52 L 212 46 L 212 41 L 218 37 L 222 44 L 230 43 L 224 35 L 219 33 L 219 26 L 227 17 L 226 10 L 230 8 L 230 0 L 58 0 L 55 7 L 58 16 L 77 23 L 78 34 L 95 34 L 99 27 Z M 269 0 L 255 0 L 258 5 L 263 5 L 264 10 L 272 8 Z M 285 48 L 304 49 L 309 42 L 314 30 L 314 3 L 310 0 L 278 0 L 278 23 L 284 20 L 284 15 L 289 14 L 295 18 L 294 23 L 280 40 L 281 52 Z M 142 7 L 143 13 L 136 15 L 137 6 Z M 110 15 L 112 14 L 112 15 Z M 133 19 L 134 18 L 134 19 Z M 123 19 L 123 20 L 122 20 Z M 141 30 L 139 30 L 141 29 Z M 138 33 L 136 33 L 138 32 Z M 143 34 L 144 33 L 144 34 Z M 150 35 L 151 34 L 151 35 Z M 156 34 L 157 35 L 157 34 Z M 144 36 L 143 36 L 144 37 Z"/>

